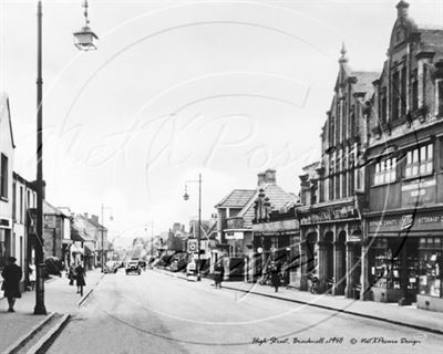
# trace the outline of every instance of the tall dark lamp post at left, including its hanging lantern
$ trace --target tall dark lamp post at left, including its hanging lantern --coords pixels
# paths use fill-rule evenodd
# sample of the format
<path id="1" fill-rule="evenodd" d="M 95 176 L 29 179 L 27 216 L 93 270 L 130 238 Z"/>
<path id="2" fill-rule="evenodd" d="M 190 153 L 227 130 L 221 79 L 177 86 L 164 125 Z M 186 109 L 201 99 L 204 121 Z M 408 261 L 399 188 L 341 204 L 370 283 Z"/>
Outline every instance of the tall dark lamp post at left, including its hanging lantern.
<path id="1" fill-rule="evenodd" d="M 87 1 L 83 2 L 85 8 L 84 15 L 87 20 Z M 47 314 L 44 305 L 44 262 L 43 262 L 43 79 L 42 79 L 42 1 L 37 3 L 37 244 L 35 244 L 35 306 L 34 314 Z M 97 39 L 94 32 L 89 29 L 89 33 L 79 31 L 74 33 L 76 40 L 82 38 L 83 45 L 76 45 L 80 50 L 90 50 L 93 40 Z"/>

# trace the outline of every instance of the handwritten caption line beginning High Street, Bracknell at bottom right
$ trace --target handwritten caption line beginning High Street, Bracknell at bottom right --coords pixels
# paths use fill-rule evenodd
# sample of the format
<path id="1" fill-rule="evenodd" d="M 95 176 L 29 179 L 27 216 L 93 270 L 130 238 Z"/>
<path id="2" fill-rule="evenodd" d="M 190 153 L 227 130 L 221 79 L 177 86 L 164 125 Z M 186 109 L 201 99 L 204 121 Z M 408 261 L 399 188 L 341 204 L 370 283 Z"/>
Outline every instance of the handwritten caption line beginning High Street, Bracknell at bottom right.
<path id="1" fill-rule="evenodd" d="M 272 344 L 381 344 L 381 345 L 389 345 L 389 344 L 406 344 L 406 345 L 416 345 L 421 344 L 422 342 L 416 339 L 385 339 L 385 337 L 361 337 L 361 339 L 349 339 L 346 340 L 342 336 L 331 336 L 331 337 L 277 337 L 277 336 L 269 336 L 269 337 L 253 337 L 253 344 L 256 345 L 272 345 Z"/>

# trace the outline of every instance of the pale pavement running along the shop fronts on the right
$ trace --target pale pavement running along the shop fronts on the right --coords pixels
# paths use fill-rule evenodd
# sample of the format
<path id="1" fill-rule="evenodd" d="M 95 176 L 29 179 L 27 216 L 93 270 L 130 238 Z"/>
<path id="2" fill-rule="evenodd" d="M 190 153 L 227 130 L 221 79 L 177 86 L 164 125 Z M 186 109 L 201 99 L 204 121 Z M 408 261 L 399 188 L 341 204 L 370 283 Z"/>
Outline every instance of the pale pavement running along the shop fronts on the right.
<path id="1" fill-rule="evenodd" d="M 166 274 L 186 280 L 183 273 L 173 273 L 157 270 Z M 213 283 L 207 278 L 203 282 Z M 279 288 L 275 292 L 269 285 L 247 283 L 243 281 L 225 281 L 223 288 L 241 293 L 250 293 L 281 301 L 305 304 L 340 313 L 383 321 L 392 324 L 403 325 L 419 331 L 443 334 L 443 313 L 416 309 L 414 305 L 400 306 L 398 303 L 380 303 L 373 301 L 360 301 L 344 296 L 332 296 L 330 294 L 312 294 L 308 291 L 299 291 L 293 288 Z"/>

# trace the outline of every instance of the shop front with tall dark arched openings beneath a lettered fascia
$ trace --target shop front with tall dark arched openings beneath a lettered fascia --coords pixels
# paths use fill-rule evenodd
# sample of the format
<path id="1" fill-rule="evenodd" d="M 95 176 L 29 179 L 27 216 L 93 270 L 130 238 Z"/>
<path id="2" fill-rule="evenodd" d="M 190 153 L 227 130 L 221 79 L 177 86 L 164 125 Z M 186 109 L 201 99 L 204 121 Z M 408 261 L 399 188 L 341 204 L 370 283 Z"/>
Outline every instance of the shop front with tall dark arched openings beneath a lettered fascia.
<path id="1" fill-rule="evenodd" d="M 353 200 L 301 207 L 301 290 L 359 299 L 362 222 Z M 311 279 L 317 279 L 312 289 Z"/>

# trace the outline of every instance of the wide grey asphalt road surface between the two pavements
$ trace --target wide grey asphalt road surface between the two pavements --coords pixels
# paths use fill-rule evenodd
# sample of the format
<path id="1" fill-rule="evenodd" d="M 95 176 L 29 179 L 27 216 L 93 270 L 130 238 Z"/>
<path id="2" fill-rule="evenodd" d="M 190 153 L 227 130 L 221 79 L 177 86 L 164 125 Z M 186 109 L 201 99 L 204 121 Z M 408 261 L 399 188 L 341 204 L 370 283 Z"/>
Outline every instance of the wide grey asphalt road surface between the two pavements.
<path id="1" fill-rule="evenodd" d="M 105 275 L 48 353 L 431 354 L 442 347 L 443 336 L 404 326 L 214 289 L 207 280 L 120 270 Z"/>

